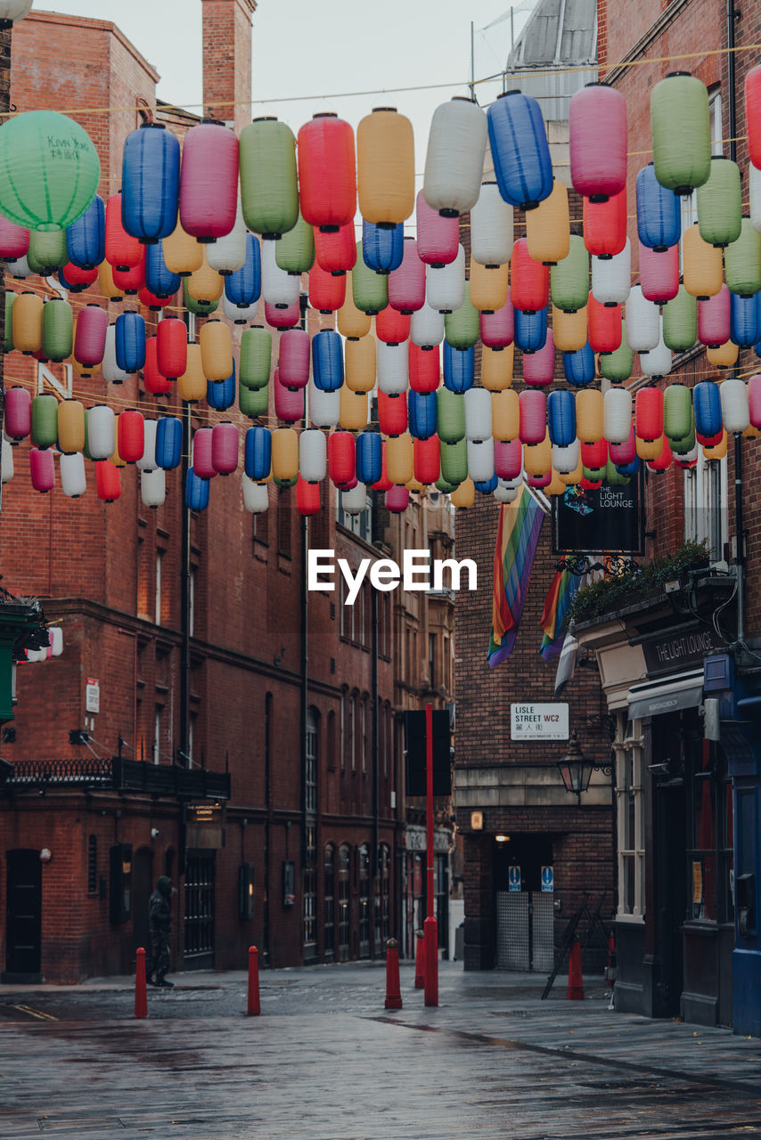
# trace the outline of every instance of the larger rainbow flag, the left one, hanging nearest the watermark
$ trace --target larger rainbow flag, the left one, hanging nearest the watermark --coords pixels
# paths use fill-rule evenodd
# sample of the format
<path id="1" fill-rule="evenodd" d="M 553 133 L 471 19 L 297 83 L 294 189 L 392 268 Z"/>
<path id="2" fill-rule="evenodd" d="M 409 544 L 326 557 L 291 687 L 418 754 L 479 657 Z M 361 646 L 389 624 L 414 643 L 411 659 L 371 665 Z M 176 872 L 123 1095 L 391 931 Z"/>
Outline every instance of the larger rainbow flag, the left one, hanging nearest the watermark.
<path id="1" fill-rule="evenodd" d="M 544 512 L 527 490 L 500 508 L 494 547 L 492 636 L 488 663 L 507 661 L 512 652 L 534 564 Z"/>

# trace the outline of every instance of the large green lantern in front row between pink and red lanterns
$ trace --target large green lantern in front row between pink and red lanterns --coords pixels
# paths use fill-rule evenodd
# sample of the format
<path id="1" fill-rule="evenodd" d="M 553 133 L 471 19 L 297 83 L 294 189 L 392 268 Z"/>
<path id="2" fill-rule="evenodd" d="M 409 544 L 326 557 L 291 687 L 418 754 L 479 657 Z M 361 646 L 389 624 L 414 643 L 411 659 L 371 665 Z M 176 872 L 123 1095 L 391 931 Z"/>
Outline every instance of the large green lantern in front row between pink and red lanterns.
<path id="1" fill-rule="evenodd" d="M 241 206 L 250 230 L 281 237 L 299 218 L 296 137 L 274 117 L 254 119 L 240 138 Z"/>

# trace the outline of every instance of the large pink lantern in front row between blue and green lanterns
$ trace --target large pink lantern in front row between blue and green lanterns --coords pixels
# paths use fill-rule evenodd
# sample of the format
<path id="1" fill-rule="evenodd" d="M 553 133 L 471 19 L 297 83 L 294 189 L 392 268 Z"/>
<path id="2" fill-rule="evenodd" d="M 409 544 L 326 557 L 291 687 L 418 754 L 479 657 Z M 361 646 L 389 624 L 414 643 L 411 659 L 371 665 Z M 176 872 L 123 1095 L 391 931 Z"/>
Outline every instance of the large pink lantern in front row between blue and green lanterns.
<path id="1" fill-rule="evenodd" d="M 180 223 L 186 234 L 201 242 L 213 242 L 233 230 L 237 176 L 234 132 L 221 123 L 192 127 L 183 142 L 179 184 Z"/>

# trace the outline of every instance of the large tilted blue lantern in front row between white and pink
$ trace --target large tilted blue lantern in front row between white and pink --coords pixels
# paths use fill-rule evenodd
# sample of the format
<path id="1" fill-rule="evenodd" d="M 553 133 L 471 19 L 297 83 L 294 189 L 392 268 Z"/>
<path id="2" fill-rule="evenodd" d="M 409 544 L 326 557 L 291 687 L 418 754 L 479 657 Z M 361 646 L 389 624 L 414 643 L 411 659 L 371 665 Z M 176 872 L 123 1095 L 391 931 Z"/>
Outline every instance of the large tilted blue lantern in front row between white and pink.
<path id="1" fill-rule="evenodd" d="M 500 194 L 510 205 L 532 210 L 552 193 L 552 161 L 540 105 L 531 95 L 507 91 L 486 115 Z"/>

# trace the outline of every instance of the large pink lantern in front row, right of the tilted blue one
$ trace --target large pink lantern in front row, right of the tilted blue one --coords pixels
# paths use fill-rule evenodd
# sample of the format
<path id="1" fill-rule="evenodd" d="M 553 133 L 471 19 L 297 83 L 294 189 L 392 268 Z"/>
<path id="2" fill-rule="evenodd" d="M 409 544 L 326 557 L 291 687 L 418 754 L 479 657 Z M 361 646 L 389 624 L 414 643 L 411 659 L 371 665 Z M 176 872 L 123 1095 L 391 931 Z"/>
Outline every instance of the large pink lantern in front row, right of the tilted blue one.
<path id="1" fill-rule="evenodd" d="M 570 180 L 586 197 L 605 199 L 626 185 L 626 101 L 607 83 L 588 83 L 568 105 Z"/>

